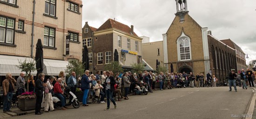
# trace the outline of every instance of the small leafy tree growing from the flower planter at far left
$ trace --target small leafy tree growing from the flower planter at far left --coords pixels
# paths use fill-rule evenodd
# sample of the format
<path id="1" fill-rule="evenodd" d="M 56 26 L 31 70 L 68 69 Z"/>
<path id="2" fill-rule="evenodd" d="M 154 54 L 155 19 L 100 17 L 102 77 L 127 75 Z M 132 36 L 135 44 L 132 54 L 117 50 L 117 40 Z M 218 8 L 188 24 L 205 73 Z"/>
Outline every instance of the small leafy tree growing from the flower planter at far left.
<path id="1" fill-rule="evenodd" d="M 22 62 L 21 60 L 19 60 L 19 65 L 17 65 L 17 67 L 19 69 L 21 69 L 21 72 L 26 72 L 26 76 L 25 76 L 25 81 L 27 81 L 28 77 L 30 77 L 31 72 L 36 71 L 36 67 L 35 67 L 35 60 L 33 59 L 29 59 L 27 60 L 27 58 Z M 27 91 L 28 91 L 28 84 L 27 84 Z"/>

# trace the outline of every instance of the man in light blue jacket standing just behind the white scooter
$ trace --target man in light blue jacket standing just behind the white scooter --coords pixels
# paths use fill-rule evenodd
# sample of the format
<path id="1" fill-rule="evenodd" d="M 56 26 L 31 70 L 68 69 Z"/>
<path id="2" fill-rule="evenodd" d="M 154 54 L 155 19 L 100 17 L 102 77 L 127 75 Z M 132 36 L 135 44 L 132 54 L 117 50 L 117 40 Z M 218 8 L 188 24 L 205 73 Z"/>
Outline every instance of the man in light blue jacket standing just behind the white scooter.
<path id="1" fill-rule="evenodd" d="M 76 80 L 75 72 L 71 72 L 71 76 L 68 77 L 68 79 L 67 79 L 67 86 L 70 87 L 72 93 L 74 93 L 74 94 L 76 93 L 77 80 Z M 73 99 L 73 96 L 70 95 L 69 103 L 71 102 L 72 99 Z"/>

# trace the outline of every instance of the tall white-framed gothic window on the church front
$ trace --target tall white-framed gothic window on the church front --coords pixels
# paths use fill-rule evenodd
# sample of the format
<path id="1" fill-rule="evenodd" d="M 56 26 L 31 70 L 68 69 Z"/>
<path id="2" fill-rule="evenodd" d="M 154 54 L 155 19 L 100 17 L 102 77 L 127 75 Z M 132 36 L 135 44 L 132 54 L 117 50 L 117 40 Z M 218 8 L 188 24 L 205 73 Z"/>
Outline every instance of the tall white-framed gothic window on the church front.
<path id="1" fill-rule="evenodd" d="M 180 60 L 190 60 L 190 40 L 188 37 L 182 37 L 179 40 Z"/>

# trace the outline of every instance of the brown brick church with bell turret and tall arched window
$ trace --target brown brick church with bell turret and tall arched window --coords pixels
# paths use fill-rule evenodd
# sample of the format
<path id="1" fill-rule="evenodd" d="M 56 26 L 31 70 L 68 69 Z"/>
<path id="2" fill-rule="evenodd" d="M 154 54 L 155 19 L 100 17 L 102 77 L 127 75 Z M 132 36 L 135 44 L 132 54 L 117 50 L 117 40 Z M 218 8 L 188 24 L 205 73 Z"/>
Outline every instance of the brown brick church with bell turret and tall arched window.
<path id="1" fill-rule="evenodd" d="M 236 50 L 211 35 L 190 15 L 187 0 L 175 0 L 175 19 L 163 36 L 164 64 L 174 72 L 211 73 L 225 79 L 236 67 Z"/>

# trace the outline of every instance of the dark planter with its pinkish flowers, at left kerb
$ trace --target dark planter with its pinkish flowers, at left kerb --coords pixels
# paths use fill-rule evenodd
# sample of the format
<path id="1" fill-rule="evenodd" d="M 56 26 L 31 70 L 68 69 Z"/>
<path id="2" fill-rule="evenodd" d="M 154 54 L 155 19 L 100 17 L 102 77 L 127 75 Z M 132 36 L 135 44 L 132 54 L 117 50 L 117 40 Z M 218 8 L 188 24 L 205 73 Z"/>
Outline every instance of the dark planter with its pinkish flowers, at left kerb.
<path id="1" fill-rule="evenodd" d="M 25 92 L 17 96 L 18 107 L 22 111 L 35 109 L 36 95 L 34 92 Z"/>

